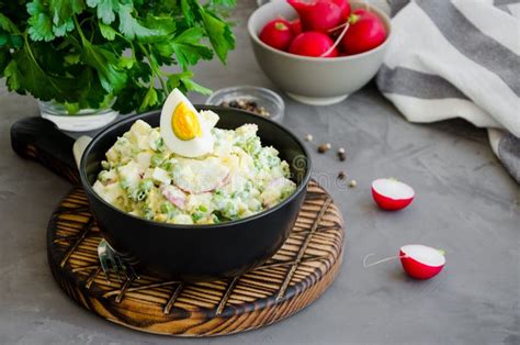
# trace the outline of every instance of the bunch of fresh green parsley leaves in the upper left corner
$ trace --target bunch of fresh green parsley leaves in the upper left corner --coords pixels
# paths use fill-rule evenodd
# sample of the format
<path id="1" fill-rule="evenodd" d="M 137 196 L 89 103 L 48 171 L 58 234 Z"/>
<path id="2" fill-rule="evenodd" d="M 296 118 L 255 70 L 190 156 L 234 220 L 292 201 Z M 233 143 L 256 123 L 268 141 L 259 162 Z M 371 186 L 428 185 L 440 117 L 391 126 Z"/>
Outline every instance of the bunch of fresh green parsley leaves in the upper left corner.
<path id="1" fill-rule="evenodd" d="M 74 113 L 159 107 L 173 89 L 210 92 L 190 67 L 226 63 L 236 0 L 0 0 L 0 78 Z M 176 73 L 162 66 L 177 65 Z"/>

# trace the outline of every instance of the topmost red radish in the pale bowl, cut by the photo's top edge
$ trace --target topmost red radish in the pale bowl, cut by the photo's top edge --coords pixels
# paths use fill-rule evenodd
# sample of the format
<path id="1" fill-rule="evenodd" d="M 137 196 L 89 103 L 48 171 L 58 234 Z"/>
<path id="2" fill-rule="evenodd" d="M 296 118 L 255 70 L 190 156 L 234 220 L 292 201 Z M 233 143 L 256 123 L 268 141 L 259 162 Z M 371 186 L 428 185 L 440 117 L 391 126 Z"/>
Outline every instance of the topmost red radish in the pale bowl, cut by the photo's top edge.
<path id="1" fill-rule="evenodd" d="M 340 7 L 331 0 L 287 0 L 287 2 L 298 12 L 304 31 L 327 33 L 344 20 Z"/>

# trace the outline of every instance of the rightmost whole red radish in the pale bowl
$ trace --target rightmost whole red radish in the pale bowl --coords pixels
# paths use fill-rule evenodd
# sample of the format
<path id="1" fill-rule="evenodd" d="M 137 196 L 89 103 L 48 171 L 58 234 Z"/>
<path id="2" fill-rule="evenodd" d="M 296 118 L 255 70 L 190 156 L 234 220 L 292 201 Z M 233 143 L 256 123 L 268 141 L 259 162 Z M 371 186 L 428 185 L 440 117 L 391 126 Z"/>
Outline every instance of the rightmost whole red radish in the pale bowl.
<path id="1" fill-rule="evenodd" d="M 350 29 L 341 41 L 348 55 L 360 54 L 380 46 L 386 40 L 383 21 L 366 10 L 355 10 L 350 15 Z"/>

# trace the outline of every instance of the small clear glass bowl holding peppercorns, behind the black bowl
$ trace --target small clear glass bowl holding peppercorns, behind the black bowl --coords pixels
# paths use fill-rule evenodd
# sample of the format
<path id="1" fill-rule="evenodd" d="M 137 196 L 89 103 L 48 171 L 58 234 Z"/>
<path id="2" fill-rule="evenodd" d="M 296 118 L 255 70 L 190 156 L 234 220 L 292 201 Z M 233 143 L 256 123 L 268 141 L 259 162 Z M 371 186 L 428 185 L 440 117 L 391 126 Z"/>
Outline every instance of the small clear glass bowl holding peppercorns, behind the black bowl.
<path id="1" fill-rule="evenodd" d="M 285 114 L 285 103 L 276 92 L 253 86 L 238 86 L 216 90 L 207 98 L 206 104 L 222 105 L 224 102 L 229 103 L 238 100 L 253 101 L 258 107 L 263 107 L 270 113 L 269 119 L 275 122 L 282 122 Z M 255 112 L 251 113 L 256 114 Z"/>

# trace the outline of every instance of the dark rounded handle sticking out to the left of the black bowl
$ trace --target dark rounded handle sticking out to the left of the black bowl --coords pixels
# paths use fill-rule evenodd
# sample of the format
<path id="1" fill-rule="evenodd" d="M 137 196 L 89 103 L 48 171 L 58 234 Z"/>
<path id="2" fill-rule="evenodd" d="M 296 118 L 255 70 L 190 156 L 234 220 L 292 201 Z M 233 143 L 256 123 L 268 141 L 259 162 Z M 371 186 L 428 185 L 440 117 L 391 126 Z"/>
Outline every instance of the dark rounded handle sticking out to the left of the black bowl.
<path id="1" fill-rule="evenodd" d="M 34 159 L 63 178 L 80 183 L 72 154 L 75 140 L 43 118 L 26 118 L 11 127 L 11 146 L 24 158 Z"/>

